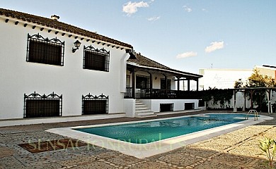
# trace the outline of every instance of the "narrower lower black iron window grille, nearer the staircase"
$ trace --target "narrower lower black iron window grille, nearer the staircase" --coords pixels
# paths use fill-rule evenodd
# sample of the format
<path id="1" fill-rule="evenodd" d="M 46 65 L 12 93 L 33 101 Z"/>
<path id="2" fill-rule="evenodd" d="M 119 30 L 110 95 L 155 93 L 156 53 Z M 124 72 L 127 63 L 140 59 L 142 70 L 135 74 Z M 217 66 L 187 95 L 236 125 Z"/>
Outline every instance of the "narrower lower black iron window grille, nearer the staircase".
<path id="1" fill-rule="evenodd" d="M 101 94 L 93 96 L 90 93 L 82 96 L 82 114 L 105 114 L 108 113 L 108 96 Z"/>

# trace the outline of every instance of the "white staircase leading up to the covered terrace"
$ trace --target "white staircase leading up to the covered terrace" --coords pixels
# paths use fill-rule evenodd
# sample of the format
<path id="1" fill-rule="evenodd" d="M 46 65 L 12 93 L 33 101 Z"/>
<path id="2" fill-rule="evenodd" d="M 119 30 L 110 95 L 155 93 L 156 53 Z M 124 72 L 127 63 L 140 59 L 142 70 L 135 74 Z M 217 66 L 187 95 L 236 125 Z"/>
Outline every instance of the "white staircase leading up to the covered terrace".
<path id="1" fill-rule="evenodd" d="M 142 101 L 136 99 L 135 101 L 135 117 L 136 118 L 147 118 L 147 117 L 154 117 L 156 114 L 154 114 L 153 111 L 151 111 L 150 108 L 146 107 L 142 103 Z"/>

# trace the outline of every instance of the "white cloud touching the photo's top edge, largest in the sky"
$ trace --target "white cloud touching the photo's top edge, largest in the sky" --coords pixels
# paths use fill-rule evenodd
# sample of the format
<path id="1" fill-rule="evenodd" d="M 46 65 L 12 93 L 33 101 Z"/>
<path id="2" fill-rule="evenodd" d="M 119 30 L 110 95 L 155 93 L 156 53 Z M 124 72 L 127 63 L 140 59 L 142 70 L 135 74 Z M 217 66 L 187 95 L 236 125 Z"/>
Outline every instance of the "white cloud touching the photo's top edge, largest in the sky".
<path id="1" fill-rule="evenodd" d="M 149 7 L 149 4 L 153 2 L 150 1 L 148 2 L 144 2 L 144 1 L 139 1 L 139 2 L 132 2 L 129 1 L 127 2 L 127 4 L 124 4 L 122 6 L 122 11 L 127 13 L 127 15 L 132 15 L 133 13 L 137 13 L 138 8 L 144 8 L 144 7 Z"/>

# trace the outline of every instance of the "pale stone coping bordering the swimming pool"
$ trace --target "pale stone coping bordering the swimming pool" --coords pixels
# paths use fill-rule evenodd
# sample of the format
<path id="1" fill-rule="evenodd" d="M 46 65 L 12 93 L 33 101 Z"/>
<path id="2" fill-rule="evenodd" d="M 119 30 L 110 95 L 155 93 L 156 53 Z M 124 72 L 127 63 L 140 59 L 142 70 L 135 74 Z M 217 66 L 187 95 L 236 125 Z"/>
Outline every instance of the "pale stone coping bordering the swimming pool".
<path id="1" fill-rule="evenodd" d="M 190 117 L 190 116 L 202 116 L 206 114 L 212 113 L 204 113 L 197 115 L 183 115 L 179 117 L 173 118 L 181 118 L 181 117 Z M 231 113 L 232 114 L 232 113 Z M 123 142 L 117 139 L 110 139 L 108 137 L 102 137 L 95 134 L 88 134 L 86 132 L 80 132 L 74 130 L 76 128 L 84 128 L 84 127 L 100 127 L 105 125 L 121 125 L 121 124 L 132 124 L 132 123 L 144 123 L 155 120 L 166 120 L 173 118 L 159 118 L 154 120 L 142 120 L 142 121 L 131 121 L 131 122 L 122 122 L 122 123 L 108 123 L 108 124 L 100 124 L 100 125 L 86 125 L 86 126 L 76 126 L 76 127 L 62 127 L 62 128 L 53 128 L 50 130 L 46 130 L 47 132 L 52 132 L 54 134 L 59 134 L 65 137 L 71 137 L 72 139 L 79 139 L 82 142 L 87 142 L 91 144 L 91 146 L 100 146 L 105 149 L 110 149 L 113 151 L 119 151 L 122 154 L 126 154 L 129 156 L 134 156 L 136 158 L 147 158 L 149 156 L 154 156 L 156 154 L 166 153 L 173 149 L 178 149 L 183 146 L 187 146 L 189 144 L 193 144 L 196 142 L 203 141 L 205 139 L 210 139 L 212 137 L 219 136 L 221 134 L 226 134 L 228 132 L 232 132 L 234 130 L 241 129 L 243 127 L 247 127 L 249 125 L 255 125 L 257 123 L 261 123 L 265 120 L 271 120 L 272 117 L 268 117 L 265 115 L 259 115 L 258 120 L 254 120 L 254 118 L 249 118 L 248 120 L 244 120 L 238 123 L 232 123 L 229 125 L 223 125 L 220 127 L 214 127 L 207 130 L 202 130 L 199 132 L 193 132 L 190 134 L 181 135 L 178 137 L 172 137 L 168 139 L 162 139 L 157 142 L 151 142 L 147 144 L 133 144 L 130 142 Z"/>

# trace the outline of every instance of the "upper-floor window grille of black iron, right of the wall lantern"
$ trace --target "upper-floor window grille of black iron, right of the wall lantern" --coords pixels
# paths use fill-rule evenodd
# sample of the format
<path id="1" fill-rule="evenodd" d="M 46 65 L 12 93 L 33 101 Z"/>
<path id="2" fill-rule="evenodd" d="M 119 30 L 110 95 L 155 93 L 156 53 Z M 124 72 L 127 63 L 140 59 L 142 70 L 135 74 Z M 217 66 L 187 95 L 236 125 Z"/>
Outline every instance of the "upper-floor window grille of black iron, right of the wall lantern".
<path id="1" fill-rule="evenodd" d="M 84 69 L 109 72 L 110 51 L 84 46 Z"/>

